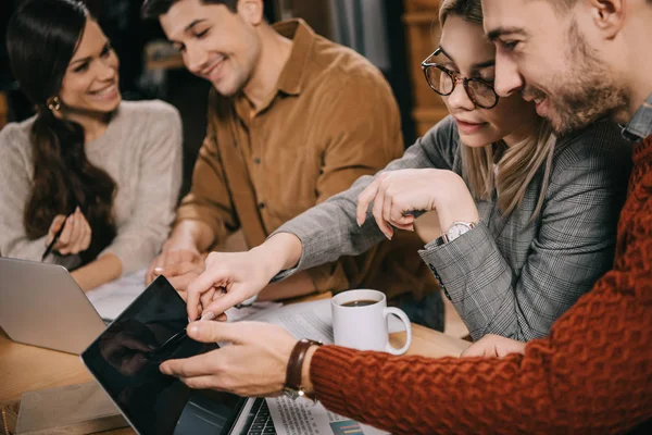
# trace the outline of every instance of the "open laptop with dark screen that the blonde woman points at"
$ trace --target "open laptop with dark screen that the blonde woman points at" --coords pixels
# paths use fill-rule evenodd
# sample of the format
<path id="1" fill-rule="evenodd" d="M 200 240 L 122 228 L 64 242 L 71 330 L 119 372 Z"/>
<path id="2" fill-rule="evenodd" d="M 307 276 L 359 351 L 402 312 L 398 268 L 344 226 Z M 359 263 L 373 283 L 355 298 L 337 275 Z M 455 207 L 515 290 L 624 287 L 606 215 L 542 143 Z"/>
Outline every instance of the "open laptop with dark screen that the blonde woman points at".
<path id="1" fill-rule="evenodd" d="M 190 389 L 160 372 L 167 359 L 217 349 L 190 339 L 187 325 L 186 302 L 159 276 L 80 358 L 138 434 L 275 434 L 264 399 Z"/>

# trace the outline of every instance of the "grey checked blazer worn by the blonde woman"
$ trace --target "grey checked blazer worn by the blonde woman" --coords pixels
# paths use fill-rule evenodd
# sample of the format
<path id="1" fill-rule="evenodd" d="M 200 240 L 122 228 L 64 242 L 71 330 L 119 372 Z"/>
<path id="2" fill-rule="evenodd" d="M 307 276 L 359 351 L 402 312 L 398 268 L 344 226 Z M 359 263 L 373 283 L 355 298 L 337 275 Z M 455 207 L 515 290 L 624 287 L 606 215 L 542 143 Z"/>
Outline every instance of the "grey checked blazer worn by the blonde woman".
<path id="1" fill-rule="evenodd" d="M 474 340 L 498 334 L 519 340 L 546 336 L 552 323 L 612 266 L 616 224 L 631 166 L 631 146 L 617 125 L 600 122 L 557 140 L 550 184 L 538 217 L 528 223 L 541 191 L 542 169 L 521 206 L 501 216 L 496 196 L 476 201 L 480 223 L 457 239 L 419 251 Z M 384 171 L 446 169 L 464 177 L 451 116 L 432 127 Z M 296 271 L 364 252 L 384 239 L 371 210 L 355 222 L 353 186 L 289 221 L 276 233 L 302 243 Z M 432 186 L 438 188 L 438 186 Z"/>

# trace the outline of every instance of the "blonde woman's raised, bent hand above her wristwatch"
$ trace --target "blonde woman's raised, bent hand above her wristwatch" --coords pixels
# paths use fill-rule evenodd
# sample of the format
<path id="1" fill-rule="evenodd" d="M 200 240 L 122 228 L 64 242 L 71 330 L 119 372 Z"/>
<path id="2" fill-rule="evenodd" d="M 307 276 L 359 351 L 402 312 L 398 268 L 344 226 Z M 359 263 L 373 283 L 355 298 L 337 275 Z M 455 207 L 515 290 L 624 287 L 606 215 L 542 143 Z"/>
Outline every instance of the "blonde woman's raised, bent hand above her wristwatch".
<path id="1" fill-rule="evenodd" d="M 384 172 L 359 196 L 356 220 L 364 224 L 373 202 L 373 215 L 388 239 L 393 227 L 414 231 L 414 211 L 437 210 L 439 227 L 453 222 L 477 222 L 475 201 L 462 177 L 452 171 L 421 169 Z"/>

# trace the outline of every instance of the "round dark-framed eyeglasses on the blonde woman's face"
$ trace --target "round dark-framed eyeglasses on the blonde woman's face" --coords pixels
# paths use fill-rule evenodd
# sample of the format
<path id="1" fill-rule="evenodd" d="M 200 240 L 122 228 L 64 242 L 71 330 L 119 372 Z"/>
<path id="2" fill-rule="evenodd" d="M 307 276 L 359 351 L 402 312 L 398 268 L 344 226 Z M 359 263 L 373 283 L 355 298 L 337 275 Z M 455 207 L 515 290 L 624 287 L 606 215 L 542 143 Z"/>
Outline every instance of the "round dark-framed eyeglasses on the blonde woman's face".
<path id="1" fill-rule="evenodd" d="M 430 88 L 442 97 L 450 96 L 455 90 L 459 82 L 462 82 L 466 95 L 479 108 L 492 109 L 498 104 L 498 94 L 493 86 L 481 78 L 463 77 L 460 73 L 448 70 L 439 63 L 428 62 L 430 58 L 439 55 L 441 49 L 438 48 L 422 62 L 422 70 L 426 76 L 426 82 Z"/>

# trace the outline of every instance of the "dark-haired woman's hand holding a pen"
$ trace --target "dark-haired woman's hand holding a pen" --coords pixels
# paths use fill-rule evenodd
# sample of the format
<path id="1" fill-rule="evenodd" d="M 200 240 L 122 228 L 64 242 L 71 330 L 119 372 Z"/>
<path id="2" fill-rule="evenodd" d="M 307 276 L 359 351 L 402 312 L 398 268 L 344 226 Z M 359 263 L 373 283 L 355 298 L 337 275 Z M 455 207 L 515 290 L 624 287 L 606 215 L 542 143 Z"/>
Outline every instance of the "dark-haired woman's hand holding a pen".
<path id="1" fill-rule="evenodd" d="M 46 238 L 46 246 L 50 245 L 62 225 L 63 232 L 61 233 L 61 236 L 59 236 L 52 250 L 62 256 L 68 256 L 88 249 L 92 237 L 92 229 L 78 207 L 75 209 L 75 212 L 67 217 L 63 214 L 59 214 L 52 220 L 52 224 L 48 231 L 48 237 Z"/>

